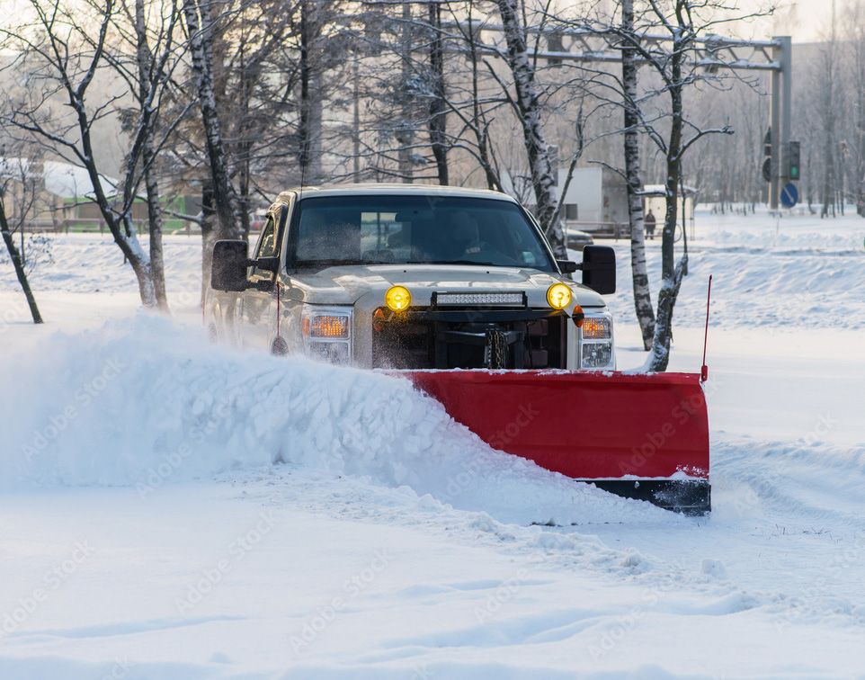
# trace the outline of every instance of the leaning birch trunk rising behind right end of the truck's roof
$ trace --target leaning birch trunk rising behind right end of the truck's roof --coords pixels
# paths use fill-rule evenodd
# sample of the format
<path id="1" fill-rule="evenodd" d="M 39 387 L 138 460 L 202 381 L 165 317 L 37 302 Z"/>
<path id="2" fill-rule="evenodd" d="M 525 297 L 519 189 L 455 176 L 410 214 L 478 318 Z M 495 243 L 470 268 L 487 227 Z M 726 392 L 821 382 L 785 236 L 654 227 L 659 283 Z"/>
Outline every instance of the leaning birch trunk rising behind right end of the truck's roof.
<path id="1" fill-rule="evenodd" d="M 558 168 L 553 167 L 540 117 L 540 94 L 535 84 L 534 67 L 526 46 L 517 0 L 496 0 L 507 40 L 507 62 L 513 74 L 516 107 L 522 124 L 522 137 L 529 157 L 531 186 L 535 194 L 535 214 L 559 260 L 567 259 L 565 234 L 557 213 L 554 183 Z"/>

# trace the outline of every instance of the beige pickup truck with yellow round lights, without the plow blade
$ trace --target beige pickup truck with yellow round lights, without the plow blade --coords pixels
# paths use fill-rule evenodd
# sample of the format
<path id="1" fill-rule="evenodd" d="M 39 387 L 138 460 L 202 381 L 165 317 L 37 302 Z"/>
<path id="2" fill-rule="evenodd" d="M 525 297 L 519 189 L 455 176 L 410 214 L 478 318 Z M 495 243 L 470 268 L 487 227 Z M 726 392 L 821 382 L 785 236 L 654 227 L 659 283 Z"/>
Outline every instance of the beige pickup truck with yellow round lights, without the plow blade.
<path id="1" fill-rule="evenodd" d="M 615 267 L 605 246 L 557 261 L 504 193 L 305 186 L 279 195 L 251 257 L 216 243 L 205 322 L 238 346 L 371 369 L 610 371 Z"/>

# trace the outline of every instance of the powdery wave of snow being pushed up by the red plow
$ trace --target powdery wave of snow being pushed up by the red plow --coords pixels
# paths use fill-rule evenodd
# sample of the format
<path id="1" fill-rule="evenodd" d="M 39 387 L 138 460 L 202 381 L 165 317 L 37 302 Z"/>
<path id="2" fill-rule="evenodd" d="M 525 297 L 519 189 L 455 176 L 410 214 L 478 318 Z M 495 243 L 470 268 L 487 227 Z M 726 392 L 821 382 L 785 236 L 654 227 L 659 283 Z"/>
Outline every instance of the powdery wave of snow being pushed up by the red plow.
<path id="1" fill-rule="evenodd" d="M 9 490 L 168 483 L 286 463 L 407 486 L 505 521 L 655 508 L 495 452 L 408 380 L 236 353 L 145 314 L 57 334 L 0 369 Z M 658 513 L 662 511 L 656 511 Z"/>

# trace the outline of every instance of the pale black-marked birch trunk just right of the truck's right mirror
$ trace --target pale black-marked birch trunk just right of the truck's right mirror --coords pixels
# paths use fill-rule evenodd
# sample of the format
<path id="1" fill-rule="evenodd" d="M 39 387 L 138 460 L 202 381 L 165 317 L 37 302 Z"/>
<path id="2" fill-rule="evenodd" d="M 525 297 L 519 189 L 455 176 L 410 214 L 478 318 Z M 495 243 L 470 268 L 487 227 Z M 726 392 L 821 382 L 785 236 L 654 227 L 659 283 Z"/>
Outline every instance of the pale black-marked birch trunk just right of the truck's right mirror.
<path id="1" fill-rule="evenodd" d="M 622 33 L 634 34 L 634 1 L 622 0 Z M 636 36 L 635 36 L 636 38 Z M 639 163 L 639 112 L 637 109 L 638 66 L 633 49 L 621 50 L 621 75 L 625 100 L 625 176 L 628 181 L 628 214 L 630 220 L 630 268 L 634 285 L 634 311 L 637 314 L 643 349 L 652 347 L 655 336 L 655 310 L 649 290 L 646 268 L 646 231 L 643 223 L 643 188 Z"/>

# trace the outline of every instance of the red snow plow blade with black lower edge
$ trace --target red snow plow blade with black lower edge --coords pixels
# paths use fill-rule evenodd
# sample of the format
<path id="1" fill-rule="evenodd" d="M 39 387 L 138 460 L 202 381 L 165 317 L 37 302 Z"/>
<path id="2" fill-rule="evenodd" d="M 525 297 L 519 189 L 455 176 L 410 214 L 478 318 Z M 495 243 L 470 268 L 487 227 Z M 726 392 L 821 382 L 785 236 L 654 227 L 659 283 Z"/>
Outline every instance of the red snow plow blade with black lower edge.
<path id="1" fill-rule="evenodd" d="M 400 371 L 495 449 L 688 514 L 710 509 L 693 373 Z"/>

